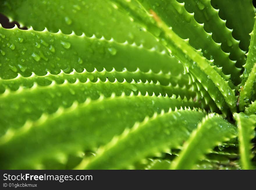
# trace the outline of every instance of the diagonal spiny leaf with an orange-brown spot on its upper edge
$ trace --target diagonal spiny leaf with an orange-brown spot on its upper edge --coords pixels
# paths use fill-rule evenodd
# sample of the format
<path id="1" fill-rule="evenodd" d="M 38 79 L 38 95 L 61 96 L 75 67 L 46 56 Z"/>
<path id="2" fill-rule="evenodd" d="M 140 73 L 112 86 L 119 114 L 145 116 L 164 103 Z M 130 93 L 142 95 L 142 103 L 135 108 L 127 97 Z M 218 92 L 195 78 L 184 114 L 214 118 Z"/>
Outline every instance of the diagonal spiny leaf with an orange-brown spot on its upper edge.
<path id="1" fill-rule="evenodd" d="M 216 67 L 211 66 L 211 61 L 207 60 L 198 53 L 197 50 L 189 46 L 187 41 L 180 38 L 171 28 L 161 21 L 155 13 L 152 14 L 154 14 L 153 17 L 156 21 L 148 16 L 148 12 L 142 12 L 141 9 L 138 9 L 138 7 L 134 5 L 134 1 L 115 1 L 119 2 L 124 9 L 128 9 L 134 20 L 142 24 L 146 23 L 144 26 L 147 30 L 152 32 L 152 34 L 155 34 L 156 28 L 158 29 L 156 35 L 159 36 L 157 37 L 159 41 L 165 44 L 172 55 L 177 57 L 184 64 L 186 70 L 191 72 L 194 77 L 202 83 L 220 109 L 226 107 L 224 106 L 224 102 L 226 102 L 230 108 L 234 109 L 236 105 L 234 90 L 232 90 L 228 82 L 222 78 Z M 163 39 L 165 43 L 163 40 L 160 40 L 160 38 Z"/>

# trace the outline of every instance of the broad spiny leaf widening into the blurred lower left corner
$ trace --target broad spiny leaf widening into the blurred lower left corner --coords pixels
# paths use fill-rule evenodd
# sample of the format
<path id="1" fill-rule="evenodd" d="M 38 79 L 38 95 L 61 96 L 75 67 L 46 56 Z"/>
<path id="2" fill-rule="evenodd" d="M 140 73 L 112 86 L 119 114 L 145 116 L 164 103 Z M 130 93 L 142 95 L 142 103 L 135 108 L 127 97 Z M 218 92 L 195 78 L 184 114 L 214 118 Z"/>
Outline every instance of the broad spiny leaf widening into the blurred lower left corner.
<path id="1" fill-rule="evenodd" d="M 45 159 L 59 160 L 58 155 L 62 155 L 65 163 L 68 154 L 95 151 L 114 135 L 132 127 L 135 121 L 183 104 L 186 100 L 183 102 L 180 98 L 126 96 L 124 93 L 119 97 L 100 96 L 97 100 L 88 98 L 80 104 L 74 102 L 69 108 L 60 107 L 53 114 L 44 113 L 38 120 L 27 120 L 22 127 L 9 129 L 0 137 L 1 168 L 34 169 Z M 193 104 L 188 102 L 186 105 Z"/>

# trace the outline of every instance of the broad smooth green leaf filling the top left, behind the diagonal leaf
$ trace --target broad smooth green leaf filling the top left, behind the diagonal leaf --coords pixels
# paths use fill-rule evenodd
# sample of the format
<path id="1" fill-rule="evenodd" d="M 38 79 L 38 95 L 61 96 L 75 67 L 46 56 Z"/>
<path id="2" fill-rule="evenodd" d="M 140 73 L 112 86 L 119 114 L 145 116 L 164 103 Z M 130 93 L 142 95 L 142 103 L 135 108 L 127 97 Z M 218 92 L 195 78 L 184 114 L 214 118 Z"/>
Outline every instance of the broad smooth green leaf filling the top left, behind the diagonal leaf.
<path id="1" fill-rule="evenodd" d="M 46 27 L 50 32 L 61 29 L 65 34 L 74 31 L 82 35 L 84 32 L 86 36 L 104 36 L 109 40 L 113 38 L 118 42 L 135 42 L 149 49 L 164 50 L 149 32 L 134 24 L 108 0 L 1 1 L 0 12 L 24 26 L 33 26 L 37 31 Z"/>

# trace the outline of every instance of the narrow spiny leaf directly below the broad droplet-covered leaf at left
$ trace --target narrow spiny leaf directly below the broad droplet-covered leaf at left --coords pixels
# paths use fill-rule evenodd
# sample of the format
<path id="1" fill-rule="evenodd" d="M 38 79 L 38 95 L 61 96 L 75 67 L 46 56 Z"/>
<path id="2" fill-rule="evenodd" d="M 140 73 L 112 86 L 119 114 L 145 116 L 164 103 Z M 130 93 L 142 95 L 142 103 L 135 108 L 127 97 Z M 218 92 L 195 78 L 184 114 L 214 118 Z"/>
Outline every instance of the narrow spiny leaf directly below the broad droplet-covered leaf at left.
<path id="1" fill-rule="evenodd" d="M 110 82 L 117 80 L 120 83 L 124 83 L 125 80 L 125 83 L 132 83 L 132 85 L 128 86 L 132 86 L 134 91 L 136 88 L 139 88 L 143 94 L 147 91 L 150 94 L 154 92 L 157 95 L 161 93 L 162 95 L 169 96 L 173 94 L 182 97 L 186 96 L 193 98 L 194 102 L 200 102 L 203 108 L 209 107 L 211 111 L 217 110 L 209 94 L 206 91 L 202 91 L 202 87 L 198 86 L 198 84 L 193 83 L 189 75 L 172 76 L 170 73 L 163 74 L 161 71 L 159 73 L 153 73 L 151 70 L 145 73 L 141 72 L 139 69 L 134 72 L 129 72 L 126 69 L 120 72 L 115 69 L 110 72 L 107 72 L 105 69 L 102 71 L 95 69 L 93 72 L 84 70 L 82 73 L 77 73 L 76 70 L 73 69 L 69 74 L 61 70 L 57 75 L 52 75 L 48 71 L 44 76 L 38 76 L 32 73 L 29 77 L 23 77 L 18 74 L 14 79 L 0 80 L 0 92 L 4 92 L 6 89 L 7 91 L 16 91 L 19 87 L 31 88 L 34 83 L 40 86 L 47 86 L 53 81 L 57 84 L 63 84 L 65 80 L 70 83 L 74 83 L 77 80 L 80 82 L 86 82 L 87 80 L 96 82 L 98 78 L 101 81 L 106 81 L 107 79 Z M 168 83 L 168 81 L 170 82 Z"/>

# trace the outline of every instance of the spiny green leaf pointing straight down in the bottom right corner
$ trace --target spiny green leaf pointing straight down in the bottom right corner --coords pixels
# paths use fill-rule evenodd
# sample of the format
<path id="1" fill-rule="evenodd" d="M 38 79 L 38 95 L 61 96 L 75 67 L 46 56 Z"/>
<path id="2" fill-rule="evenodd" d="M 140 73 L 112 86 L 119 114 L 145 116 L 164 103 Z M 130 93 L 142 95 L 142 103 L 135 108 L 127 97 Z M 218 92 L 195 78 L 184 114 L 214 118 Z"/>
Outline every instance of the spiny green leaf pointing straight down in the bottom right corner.
<path id="1" fill-rule="evenodd" d="M 251 159 L 253 158 L 250 141 L 255 136 L 256 115 L 247 116 L 244 113 L 234 113 L 237 121 L 240 161 L 243 169 L 253 169 Z"/>

